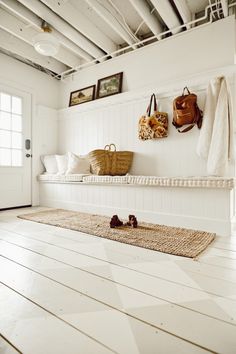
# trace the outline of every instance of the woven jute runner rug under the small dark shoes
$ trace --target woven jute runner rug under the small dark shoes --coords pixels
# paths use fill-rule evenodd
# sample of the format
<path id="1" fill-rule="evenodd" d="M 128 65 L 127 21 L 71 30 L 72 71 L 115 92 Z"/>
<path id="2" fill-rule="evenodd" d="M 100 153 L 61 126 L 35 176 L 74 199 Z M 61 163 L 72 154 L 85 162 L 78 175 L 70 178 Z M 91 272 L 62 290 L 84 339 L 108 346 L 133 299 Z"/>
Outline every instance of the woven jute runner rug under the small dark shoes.
<path id="1" fill-rule="evenodd" d="M 139 223 L 136 229 L 130 226 L 111 229 L 109 217 L 64 209 L 51 209 L 18 217 L 190 258 L 205 250 L 215 237 L 215 234 L 205 231 L 144 222 Z"/>

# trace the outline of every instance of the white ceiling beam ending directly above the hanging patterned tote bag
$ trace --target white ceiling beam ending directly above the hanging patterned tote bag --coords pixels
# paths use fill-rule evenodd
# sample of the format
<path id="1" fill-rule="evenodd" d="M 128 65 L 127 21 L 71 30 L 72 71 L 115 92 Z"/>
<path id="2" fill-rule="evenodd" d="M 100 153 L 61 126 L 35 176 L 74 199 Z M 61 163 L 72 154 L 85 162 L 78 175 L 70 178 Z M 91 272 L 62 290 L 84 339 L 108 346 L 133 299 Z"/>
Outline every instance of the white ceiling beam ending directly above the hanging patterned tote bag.
<path id="1" fill-rule="evenodd" d="M 148 4 L 143 0 L 129 0 L 139 16 L 144 20 L 146 25 L 150 28 L 152 33 L 156 36 L 163 31 L 161 24 L 156 17 L 151 14 Z"/>

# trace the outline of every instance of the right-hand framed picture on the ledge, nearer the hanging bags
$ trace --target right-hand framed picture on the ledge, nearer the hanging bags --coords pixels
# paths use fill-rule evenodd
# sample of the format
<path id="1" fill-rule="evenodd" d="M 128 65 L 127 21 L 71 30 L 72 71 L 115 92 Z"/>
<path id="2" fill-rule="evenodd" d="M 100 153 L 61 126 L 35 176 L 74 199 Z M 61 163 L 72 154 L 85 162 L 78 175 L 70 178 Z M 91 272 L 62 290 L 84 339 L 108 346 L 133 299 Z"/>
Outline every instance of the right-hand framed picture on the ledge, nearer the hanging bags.
<path id="1" fill-rule="evenodd" d="M 107 97 L 120 93 L 122 89 L 123 73 L 114 74 L 98 80 L 97 98 Z"/>

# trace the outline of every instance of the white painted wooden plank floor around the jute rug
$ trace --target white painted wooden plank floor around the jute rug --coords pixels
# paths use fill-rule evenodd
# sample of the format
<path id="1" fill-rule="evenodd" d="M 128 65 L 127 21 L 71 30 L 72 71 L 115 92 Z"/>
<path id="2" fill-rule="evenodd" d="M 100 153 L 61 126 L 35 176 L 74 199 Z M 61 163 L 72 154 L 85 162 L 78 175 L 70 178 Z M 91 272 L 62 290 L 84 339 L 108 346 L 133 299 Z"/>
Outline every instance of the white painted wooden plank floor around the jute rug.
<path id="1" fill-rule="evenodd" d="M 236 237 L 197 261 L 0 212 L 0 353 L 236 353 Z"/>

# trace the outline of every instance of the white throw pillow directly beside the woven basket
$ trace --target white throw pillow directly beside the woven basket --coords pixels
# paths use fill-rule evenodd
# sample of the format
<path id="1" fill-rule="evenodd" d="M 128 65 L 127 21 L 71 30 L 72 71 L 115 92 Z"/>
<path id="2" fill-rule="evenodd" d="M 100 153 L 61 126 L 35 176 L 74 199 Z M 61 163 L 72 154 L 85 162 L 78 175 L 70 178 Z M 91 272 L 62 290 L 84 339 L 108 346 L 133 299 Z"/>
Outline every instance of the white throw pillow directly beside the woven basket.
<path id="1" fill-rule="evenodd" d="M 90 163 L 87 156 L 77 156 L 73 152 L 69 152 L 66 174 L 90 174 Z"/>

